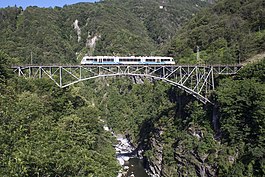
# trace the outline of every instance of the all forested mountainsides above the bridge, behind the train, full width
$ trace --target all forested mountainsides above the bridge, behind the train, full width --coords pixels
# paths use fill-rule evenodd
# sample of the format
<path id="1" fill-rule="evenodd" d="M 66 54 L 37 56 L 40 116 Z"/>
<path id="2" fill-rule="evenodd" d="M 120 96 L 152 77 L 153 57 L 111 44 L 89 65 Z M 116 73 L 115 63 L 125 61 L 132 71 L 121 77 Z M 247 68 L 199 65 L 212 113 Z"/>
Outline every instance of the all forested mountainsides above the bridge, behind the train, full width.
<path id="1" fill-rule="evenodd" d="M 264 52 L 262 0 L 222 0 L 203 9 L 207 6 L 200 0 L 108 0 L 2 8 L 1 49 L 22 63 L 31 58 L 33 63 L 77 63 L 85 54 L 239 63 Z"/>

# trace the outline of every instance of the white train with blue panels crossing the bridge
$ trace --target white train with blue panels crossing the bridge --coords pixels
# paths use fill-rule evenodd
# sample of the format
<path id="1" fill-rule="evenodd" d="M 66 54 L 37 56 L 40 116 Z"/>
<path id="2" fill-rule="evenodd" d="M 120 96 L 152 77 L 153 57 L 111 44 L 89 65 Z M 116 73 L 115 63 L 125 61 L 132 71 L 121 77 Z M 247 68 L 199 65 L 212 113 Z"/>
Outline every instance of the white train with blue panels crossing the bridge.
<path id="1" fill-rule="evenodd" d="M 175 61 L 172 57 L 117 57 L 117 56 L 84 56 L 81 65 L 87 64 L 166 64 L 174 65 Z"/>

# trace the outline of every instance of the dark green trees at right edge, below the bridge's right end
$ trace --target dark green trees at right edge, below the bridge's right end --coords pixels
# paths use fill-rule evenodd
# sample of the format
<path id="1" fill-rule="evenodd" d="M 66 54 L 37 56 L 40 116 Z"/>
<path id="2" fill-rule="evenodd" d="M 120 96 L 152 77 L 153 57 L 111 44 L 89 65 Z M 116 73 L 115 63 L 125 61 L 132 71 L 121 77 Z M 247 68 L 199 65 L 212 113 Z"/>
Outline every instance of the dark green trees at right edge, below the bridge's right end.
<path id="1" fill-rule="evenodd" d="M 264 176 L 265 87 L 264 62 L 240 71 L 237 80 L 223 80 L 218 88 L 222 142 L 234 150 L 227 176 Z"/>

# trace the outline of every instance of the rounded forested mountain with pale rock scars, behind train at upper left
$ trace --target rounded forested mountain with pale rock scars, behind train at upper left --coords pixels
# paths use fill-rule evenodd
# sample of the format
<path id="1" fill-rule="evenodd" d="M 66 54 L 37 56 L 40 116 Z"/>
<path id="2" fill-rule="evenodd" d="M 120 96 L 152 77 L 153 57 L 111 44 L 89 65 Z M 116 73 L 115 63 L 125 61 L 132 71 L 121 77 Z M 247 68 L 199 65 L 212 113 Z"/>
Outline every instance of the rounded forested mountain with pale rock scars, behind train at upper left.
<path id="1" fill-rule="evenodd" d="M 7 18 L 1 46 L 11 56 L 29 63 L 30 53 L 36 63 L 73 63 L 79 53 L 93 53 L 95 37 L 101 55 L 131 52 L 150 53 L 154 49 L 141 25 L 123 9 L 102 4 L 77 4 L 65 8 L 29 7 L 4 9 Z M 124 17 L 127 18 L 124 18 Z M 9 26 L 8 26 L 9 25 Z M 75 25 L 75 26 L 74 26 Z M 4 25 L 3 25 L 4 26 Z M 92 40 L 91 40 L 92 39 Z M 91 44 L 90 44 L 91 43 Z M 97 52 L 95 52 L 97 54 Z M 36 58 L 37 57 L 37 58 Z"/>

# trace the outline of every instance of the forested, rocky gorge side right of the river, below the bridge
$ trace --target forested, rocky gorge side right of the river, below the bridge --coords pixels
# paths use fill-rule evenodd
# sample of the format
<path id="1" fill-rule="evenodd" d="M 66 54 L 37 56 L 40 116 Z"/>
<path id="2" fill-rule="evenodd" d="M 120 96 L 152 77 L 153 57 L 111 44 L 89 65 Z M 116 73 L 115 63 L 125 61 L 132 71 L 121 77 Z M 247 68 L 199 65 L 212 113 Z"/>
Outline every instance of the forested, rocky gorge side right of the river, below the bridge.
<path id="1" fill-rule="evenodd" d="M 109 81 L 101 109 L 159 176 L 264 176 L 264 75 L 263 60 L 219 80 L 215 108 L 164 83 Z"/>

